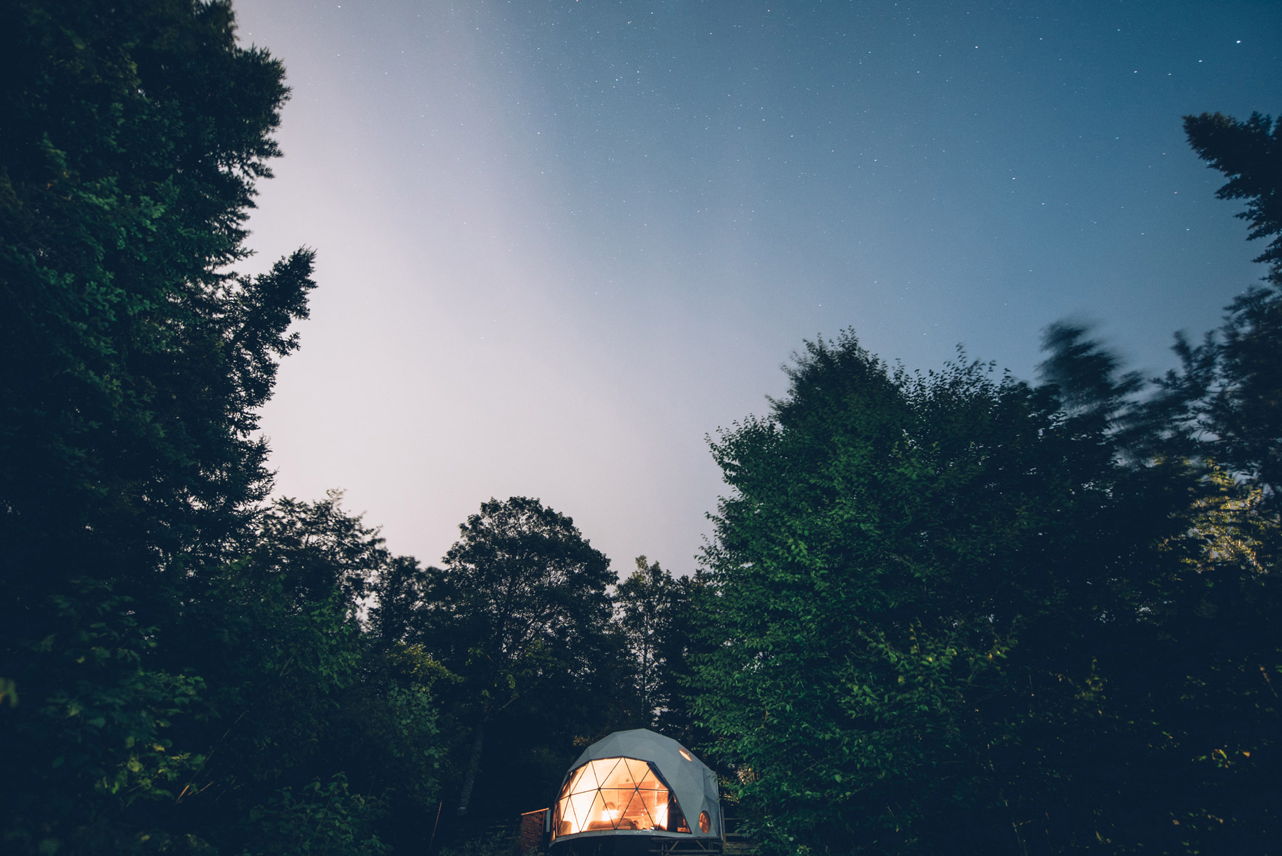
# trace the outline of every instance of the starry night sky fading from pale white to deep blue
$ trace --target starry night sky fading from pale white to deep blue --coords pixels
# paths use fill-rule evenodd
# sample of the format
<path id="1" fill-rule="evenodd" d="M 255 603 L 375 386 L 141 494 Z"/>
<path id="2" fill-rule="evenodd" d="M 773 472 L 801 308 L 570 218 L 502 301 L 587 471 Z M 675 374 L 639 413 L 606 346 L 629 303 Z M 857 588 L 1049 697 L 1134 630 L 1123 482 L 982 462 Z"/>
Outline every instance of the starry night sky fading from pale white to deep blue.
<path id="1" fill-rule="evenodd" d="M 1263 273 L 1181 117 L 1282 110 L 1276 0 L 236 10 L 292 87 L 247 269 L 318 250 L 278 493 L 424 563 L 522 495 L 687 573 L 804 340 L 1032 378 L 1073 318 L 1158 373 Z"/>

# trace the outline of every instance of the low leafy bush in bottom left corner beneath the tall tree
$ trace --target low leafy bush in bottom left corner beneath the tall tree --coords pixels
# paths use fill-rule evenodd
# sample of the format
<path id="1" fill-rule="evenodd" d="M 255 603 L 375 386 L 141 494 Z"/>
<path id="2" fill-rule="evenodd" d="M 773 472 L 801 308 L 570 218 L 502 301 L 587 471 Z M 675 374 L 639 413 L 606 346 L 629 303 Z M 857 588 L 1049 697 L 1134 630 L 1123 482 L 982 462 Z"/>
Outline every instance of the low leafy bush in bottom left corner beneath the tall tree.
<path id="1" fill-rule="evenodd" d="M 176 746 L 176 721 L 203 709 L 204 682 L 169 673 L 150 656 L 154 628 L 141 628 L 128 597 L 95 580 L 73 580 L 54 598 L 56 623 L 28 643 L 23 677 L 53 689 L 28 696 L 8 723 L 5 762 L 23 771 L 6 809 L 9 847 L 54 852 L 67 839 L 110 841 L 137 802 L 173 800 L 204 759 Z M 36 680 L 23 680 L 38 686 Z M 76 816 L 65 829 L 60 820 Z"/>

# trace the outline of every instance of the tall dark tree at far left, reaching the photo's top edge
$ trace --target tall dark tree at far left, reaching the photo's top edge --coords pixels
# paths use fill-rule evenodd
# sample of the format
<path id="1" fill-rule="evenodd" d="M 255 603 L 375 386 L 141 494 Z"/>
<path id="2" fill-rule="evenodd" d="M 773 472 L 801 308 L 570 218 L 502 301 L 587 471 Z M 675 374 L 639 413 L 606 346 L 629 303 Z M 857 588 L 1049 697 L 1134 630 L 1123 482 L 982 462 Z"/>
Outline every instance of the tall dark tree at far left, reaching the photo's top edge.
<path id="1" fill-rule="evenodd" d="M 255 411 L 312 252 L 260 277 L 287 90 L 227 3 L 0 4 L 5 847 L 110 848 L 173 800 L 206 682 L 158 652 L 269 486 Z"/>

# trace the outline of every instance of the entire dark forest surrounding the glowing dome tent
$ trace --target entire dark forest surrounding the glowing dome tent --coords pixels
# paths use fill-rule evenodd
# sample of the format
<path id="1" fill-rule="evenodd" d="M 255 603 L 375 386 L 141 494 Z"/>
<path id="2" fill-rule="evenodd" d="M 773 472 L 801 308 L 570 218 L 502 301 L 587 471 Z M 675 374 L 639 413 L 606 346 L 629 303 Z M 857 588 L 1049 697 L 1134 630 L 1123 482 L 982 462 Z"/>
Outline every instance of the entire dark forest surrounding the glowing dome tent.
<path id="1" fill-rule="evenodd" d="M 519 496 L 433 565 L 273 492 L 283 73 L 224 0 L 0 3 L 0 850 L 442 852 L 647 727 L 762 853 L 1277 852 L 1282 120 L 1183 118 L 1263 278 L 1165 375 L 847 331 L 712 438 L 697 568 Z"/>

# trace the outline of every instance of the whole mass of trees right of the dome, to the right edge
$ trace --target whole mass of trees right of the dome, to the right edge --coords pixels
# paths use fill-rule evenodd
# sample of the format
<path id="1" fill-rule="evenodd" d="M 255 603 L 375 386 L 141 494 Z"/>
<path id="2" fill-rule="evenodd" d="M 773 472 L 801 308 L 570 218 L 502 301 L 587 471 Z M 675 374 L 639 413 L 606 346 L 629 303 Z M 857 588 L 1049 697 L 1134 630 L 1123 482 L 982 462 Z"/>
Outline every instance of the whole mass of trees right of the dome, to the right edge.
<path id="1" fill-rule="evenodd" d="M 1265 284 L 1179 368 L 1053 325 L 1041 382 L 853 334 L 713 442 L 696 719 L 768 852 L 1282 842 L 1282 120 L 1187 117 Z"/>

